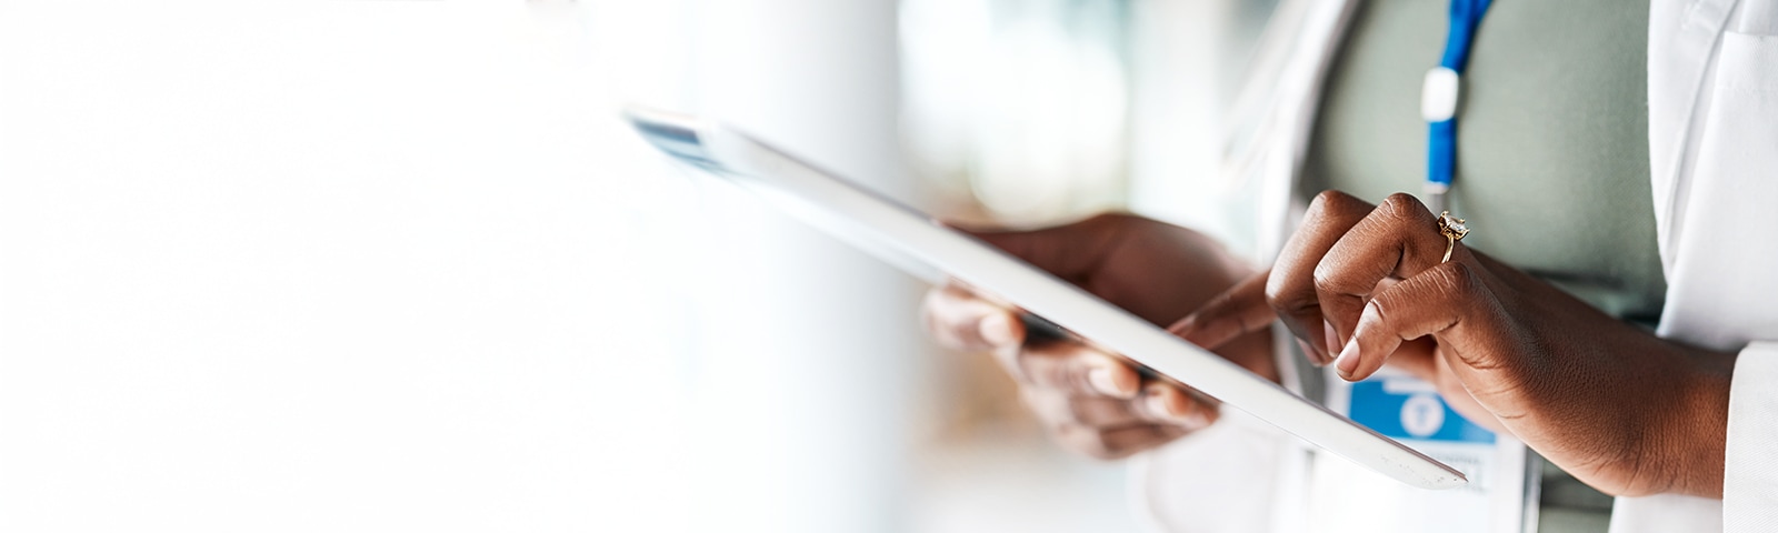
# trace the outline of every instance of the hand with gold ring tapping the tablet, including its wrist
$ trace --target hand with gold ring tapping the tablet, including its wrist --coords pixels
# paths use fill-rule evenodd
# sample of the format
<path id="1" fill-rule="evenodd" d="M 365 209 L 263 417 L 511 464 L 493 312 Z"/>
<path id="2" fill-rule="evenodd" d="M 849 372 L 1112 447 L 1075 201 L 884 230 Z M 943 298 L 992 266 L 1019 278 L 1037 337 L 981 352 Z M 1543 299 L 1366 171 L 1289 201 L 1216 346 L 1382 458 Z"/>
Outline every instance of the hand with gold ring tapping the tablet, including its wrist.
<path id="1" fill-rule="evenodd" d="M 1607 494 L 1723 497 L 1734 354 L 1655 338 L 1462 243 L 1440 263 L 1446 245 L 1410 195 L 1325 192 L 1269 274 L 1181 332 L 1220 346 L 1282 318 L 1342 378 L 1406 370 Z"/>

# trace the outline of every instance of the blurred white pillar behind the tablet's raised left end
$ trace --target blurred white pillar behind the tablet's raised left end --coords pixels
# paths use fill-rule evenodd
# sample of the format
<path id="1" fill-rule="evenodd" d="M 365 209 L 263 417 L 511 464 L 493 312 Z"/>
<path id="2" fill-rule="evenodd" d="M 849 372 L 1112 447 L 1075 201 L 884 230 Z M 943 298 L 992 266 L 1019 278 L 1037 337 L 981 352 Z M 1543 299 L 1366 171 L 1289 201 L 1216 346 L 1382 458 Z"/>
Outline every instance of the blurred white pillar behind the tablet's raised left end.
<path id="1" fill-rule="evenodd" d="M 693 4 L 686 107 L 909 199 L 894 2 Z M 925 359 L 919 288 L 752 203 L 708 206 L 724 211 L 704 261 L 733 266 L 708 272 L 729 291 L 704 300 L 692 377 L 695 528 L 900 531 Z"/>

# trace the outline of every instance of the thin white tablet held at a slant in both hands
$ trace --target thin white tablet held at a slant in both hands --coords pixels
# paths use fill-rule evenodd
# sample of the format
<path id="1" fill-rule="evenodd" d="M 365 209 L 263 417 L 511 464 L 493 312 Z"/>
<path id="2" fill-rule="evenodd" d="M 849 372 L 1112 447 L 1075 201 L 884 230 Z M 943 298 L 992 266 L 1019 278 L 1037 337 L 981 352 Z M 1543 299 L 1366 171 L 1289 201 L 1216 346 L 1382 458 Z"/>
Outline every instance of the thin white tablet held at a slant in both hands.
<path id="1" fill-rule="evenodd" d="M 1069 334 L 1117 352 L 1335 455 L 1422 489 L 1469 483 L 1463 473 L 1186 343 L 1074 284 L 932 217 L 818 171 L 715 121 L 629 108 L 629 121 L 681 163 L 733 181 L 839 240 L 926 281 L 957 279 Z"/>

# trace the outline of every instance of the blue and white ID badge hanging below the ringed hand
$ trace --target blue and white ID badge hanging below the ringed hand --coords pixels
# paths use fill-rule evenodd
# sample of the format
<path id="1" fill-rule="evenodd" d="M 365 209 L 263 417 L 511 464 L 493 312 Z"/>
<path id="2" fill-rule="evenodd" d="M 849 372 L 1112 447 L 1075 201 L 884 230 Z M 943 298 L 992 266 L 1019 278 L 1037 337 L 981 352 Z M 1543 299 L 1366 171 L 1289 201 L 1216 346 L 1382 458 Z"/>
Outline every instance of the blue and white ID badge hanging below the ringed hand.
<path id="1" fill-rule="evenodd" d="M 1310 489 L 1310 521 L 1326 531 L 1465 531 L 1527 533 L 1536 529 L 1536 481 L 1527 473 L 1526 446 L 1497 435 L 1451 409 L 1419 378 L 1383 370 L 1348 384 L 1328 373 L 1328 409 L 1426 453 L 1469 476 L 1469 485 L 1422 490 L 1317 457 Z"/>

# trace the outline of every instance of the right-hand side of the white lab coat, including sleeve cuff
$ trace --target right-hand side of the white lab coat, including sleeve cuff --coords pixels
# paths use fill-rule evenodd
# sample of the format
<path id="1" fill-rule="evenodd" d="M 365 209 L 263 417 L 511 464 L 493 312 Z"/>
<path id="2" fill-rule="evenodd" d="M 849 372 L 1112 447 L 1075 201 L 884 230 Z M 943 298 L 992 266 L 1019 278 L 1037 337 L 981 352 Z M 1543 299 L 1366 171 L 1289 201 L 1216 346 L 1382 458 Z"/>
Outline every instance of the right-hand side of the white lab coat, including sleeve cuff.
<path id="1" fill-rule="evenodd" d="M 1662 236 L 1670 265 L 1659 332 L 1702 348 L 1739 348 L 1741 355 L 1730 386 L 1723 499 L 1620 497 L 1613 531 L 1655 531 L 1638 524 L 1678 512 L 1698 513 L 1698 522 L 1686 531 L 1719 526 L 1766 531 L 1778 522 L 1778 460 L 1771 453 L 1778 446 L 1778 307 L 1771 304 L 1771 295 L 1778 293 L 1778 277 L 1771 275 L 1778 240 L 1762 238 L 1762 222 L 1771 219 L 1778 201 L 1778 179 L 1773 179 L 1778 151 L 1771 149 L 1778 146 L 1778 123 L 1773 121 L 1778 117 L 1778 91 L 1773 91 L 1778 87 L 1778 0 L 1741 0 L 1739 7 L 1725 0 L 1661 0 L 1654 7 L 1652 20 L 1664 23 L 1652 21 L 1648 46 L 1650 149 L 1662 149 L 1662 139 L 1670 140 L 1666 147 L 1673 158 L 1668 163 L 1678 178 L 1670 183 L 1677 195 L 1661 203 L 1657 194 L 1655 203 L 1655 211 L 1666 213 L 1662 224 L 1670 226 Z M 1732 12 L 1737 18 L 1730 18 Z M 1661 68 L 1675 64 L 1693 68 Z M 1696 91 L 1657 94 L 1657 85 L 1694 85 Z M 1689 119 L 1662 126 L 1655 115 L 1666 114 Z M 1657 172 L 1668 167 L 1659 156 L 1654 163 Z M 1661 181 L 1655 185 L 1659 192 Z M 1702 513 L 1710 505 L 1719 510 L 1705 519 Z"/>

